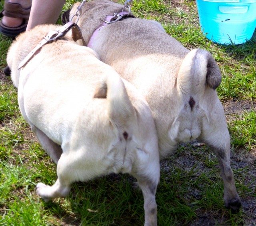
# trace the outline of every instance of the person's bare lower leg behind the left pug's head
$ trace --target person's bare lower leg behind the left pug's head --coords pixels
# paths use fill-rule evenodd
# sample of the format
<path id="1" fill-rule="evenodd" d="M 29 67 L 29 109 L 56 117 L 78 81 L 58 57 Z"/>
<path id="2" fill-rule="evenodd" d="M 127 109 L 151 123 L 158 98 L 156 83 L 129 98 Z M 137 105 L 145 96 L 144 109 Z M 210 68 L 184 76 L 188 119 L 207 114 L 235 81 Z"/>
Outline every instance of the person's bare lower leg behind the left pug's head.
<path id="1" fill-rule="evenodd" d="M 55 24 L 66 0 L 33 0 L 26 30 L 39 24 Z"/>

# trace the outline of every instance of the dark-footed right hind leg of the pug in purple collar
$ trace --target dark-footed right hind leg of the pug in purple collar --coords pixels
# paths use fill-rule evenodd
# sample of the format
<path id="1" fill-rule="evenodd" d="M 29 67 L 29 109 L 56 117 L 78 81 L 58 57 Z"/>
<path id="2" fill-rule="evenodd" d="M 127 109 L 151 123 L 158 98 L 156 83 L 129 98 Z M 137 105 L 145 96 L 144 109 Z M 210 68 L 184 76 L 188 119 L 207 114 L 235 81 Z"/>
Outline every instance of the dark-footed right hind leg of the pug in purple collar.
<path id="1" fill-rule="evenodd" d="M 218 159 L 224 182 L 225 206 L 238 211 L 241 201 L 236 192 L 234 174 L 230 166 L 230 136 L 222 106 L 216 109 L 218 110 L 212 112 L 210 116 L 210 126 L 204 127 L 200 140 L 212 148 Z"/>

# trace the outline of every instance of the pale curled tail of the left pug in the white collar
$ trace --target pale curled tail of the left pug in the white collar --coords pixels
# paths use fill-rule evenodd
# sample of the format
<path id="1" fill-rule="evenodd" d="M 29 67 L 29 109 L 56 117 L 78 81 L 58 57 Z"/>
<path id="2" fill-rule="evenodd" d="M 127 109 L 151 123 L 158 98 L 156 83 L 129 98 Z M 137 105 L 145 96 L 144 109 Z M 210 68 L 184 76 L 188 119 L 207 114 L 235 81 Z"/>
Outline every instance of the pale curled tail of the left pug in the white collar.
<path id="1" fill-rule="evenodd" d="M 128 97 L 124 82 L 117 73 L 105 77 L 97 87 L 94 97 L 107 99 L 108 115 L 112 124 L 125 129 L 134 121 L 135 109 Z"/>

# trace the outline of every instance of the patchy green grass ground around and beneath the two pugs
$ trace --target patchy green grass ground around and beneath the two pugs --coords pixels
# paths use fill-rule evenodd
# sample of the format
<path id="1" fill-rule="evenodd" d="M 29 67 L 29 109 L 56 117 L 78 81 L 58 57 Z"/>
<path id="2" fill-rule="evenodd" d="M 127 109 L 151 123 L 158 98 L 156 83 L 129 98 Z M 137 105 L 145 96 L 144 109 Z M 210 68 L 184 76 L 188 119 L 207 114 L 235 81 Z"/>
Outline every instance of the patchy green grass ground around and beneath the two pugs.
<path id="1" fill-rule="evenodd" d="M 68 0 L 64 10 L 74 2 Z M 3 3 L 1 0 L 0 8 Z M 235 156 L 231 161 L 244 208 L 237 214 L 224 208 L 220 168 L 208 147 L 181 144 L 174 156 L 161 163 L 156 194 L 158 224 L 255 225 L 256 35 L 242 45 L 216 45 L 200 31 L 195 2 L 174 3 L 170 6 L 167 0 L 136 0 L 132 12 L 140 18 L 157 20 L 186 48 L 208 50 L 218 62 L 223 79 L 217 91 L 227 106 Z M 1 34 L 0 38 L 3 71 L 11 39 Z M 131 189 L 134 178 L 128 175 L 75 183 L 67 198 L 50 202 L 36 196 L 37 182 L 54 183 L 56 166 L 20 115 L 17 91 L 10 78 L 0 78 L 0 225 L 142 225 L 143 197 L 140 191 Z"/>

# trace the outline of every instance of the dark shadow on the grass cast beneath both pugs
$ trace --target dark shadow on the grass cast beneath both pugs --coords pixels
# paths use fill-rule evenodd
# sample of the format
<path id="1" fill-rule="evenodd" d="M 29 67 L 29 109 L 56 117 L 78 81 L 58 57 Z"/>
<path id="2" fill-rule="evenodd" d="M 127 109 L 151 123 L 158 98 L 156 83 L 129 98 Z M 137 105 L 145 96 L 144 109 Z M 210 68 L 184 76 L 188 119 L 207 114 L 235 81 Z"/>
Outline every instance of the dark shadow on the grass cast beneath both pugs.
<path id="1" fill-rule="evenodd" d="M 222 200 L 223 184 L 218 162 L 210 149 L 182 144 L 174 156 L 161 162 L 156 194 L 158 225 L 238 225 L 251 222 L 255 204 L 245 175 L 253 165 L 238 157 L 232 167 L 242 196 L 243 209 L 231 214 Z M 64 225 L 139 226 L 144 224 L 143 196 L 132 189 L 135 179 L 110 174 L 86 183 L 74 183 L 68 198 L 44 203 L 50 216 Z M 41 201 L 43 202 L 43 201 Z M 117 211 L 118 210 L 118 211 Z"/>

